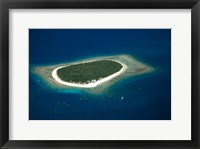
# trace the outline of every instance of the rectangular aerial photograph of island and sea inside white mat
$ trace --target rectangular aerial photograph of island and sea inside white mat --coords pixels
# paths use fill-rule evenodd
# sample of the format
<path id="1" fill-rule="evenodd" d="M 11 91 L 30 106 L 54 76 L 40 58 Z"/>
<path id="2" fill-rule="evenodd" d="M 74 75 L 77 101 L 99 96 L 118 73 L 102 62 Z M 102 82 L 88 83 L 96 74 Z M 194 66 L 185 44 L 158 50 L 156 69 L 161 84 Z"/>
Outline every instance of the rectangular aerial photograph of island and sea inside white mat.
<path id="1" fill-rule="evenodd" d="M 29 29 L 29 120 L 171 120 L 171 29 Z"/>

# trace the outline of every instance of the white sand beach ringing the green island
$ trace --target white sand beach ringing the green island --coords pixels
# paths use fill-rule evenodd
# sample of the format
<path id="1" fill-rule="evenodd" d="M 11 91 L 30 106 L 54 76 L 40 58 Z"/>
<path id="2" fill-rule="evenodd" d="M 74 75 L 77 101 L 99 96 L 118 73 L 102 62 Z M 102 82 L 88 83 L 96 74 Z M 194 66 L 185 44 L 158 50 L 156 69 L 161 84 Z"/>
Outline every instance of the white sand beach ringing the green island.
<path id="1" fill-rule="evenodd" d="M 111 60 L 111 61 L 114 61 L 114 60 Z M 105 78 L 102 78 L 100 80 L 97 80 L 96 82 L 91 82 L 91 83 L 88 83 L 88 84 L 77 84 L 77 83 L 70 83 L 70 82 L 66 82 L 66 81 L 63 81 L 59 78 L 58 74 L 57 74 L 57 71 L 58 69 L 60 68 L 63 68 L 63 67 L 67 67 L 67 66 L 60 66 L 56 69 L 54 69 L 52 71 L 52 77 L 60 84 L 63 84 L 63 85 L 67 85 L 67 86 L 73 86 L 73 87 L 80 87 L 80 88 L 92 88 L 92 87 L 96 87 L 97 85 L 103 83 L 103 82 L 106 82 L 106 81 L 109 81 L 111 79 L 113 79 L 114 77 L 122 74 L 123 72 L 126 71 L 127 69 L 127 66 L 119 61 L 115 61 L 115 62 L 118 62 L 122 65 L 122 68 L 120 69 L 120 71 L 108 76 L 108 77 L 105 77 Z M 85 63 L 88 63 L 88 62 L 85 62 Z"/>

